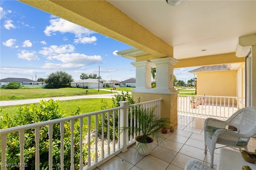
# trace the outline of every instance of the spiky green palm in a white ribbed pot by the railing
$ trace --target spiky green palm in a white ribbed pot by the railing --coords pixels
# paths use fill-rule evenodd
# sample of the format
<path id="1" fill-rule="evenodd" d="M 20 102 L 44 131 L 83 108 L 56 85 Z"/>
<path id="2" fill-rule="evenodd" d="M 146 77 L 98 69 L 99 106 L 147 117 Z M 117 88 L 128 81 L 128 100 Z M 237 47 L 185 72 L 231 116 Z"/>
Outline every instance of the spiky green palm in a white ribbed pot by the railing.
<path id="1" fill-rule="evenodd" d="M 127 130 L 130 136 L 134 133 L 137 135 L 136 152 L 142 155 L 148 155 L 153 149 L 153 144 L 162 144 L 165 137 L 162 135 L 161 128 L 166 127 L 170 123 L 168 118 L 160 118 L 154 114 L 154 109 L 136 109 L 136 122 L 135 126 L 121 127 L 120 133 Z"/>

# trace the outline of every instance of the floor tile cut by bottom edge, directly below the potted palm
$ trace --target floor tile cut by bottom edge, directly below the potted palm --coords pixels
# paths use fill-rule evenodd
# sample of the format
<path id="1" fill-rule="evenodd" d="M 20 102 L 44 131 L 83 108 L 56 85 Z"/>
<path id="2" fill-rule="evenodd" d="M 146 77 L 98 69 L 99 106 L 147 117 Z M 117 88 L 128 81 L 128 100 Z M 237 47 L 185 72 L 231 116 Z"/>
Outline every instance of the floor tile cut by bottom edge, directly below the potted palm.
<path id="1" fill-rule="evenodd" d="M 144 170 L 165 170 L 169 166 L 169 163 L 154 156 L 147 155 L 142 160 L 140 160 L 136 166 Z"/>

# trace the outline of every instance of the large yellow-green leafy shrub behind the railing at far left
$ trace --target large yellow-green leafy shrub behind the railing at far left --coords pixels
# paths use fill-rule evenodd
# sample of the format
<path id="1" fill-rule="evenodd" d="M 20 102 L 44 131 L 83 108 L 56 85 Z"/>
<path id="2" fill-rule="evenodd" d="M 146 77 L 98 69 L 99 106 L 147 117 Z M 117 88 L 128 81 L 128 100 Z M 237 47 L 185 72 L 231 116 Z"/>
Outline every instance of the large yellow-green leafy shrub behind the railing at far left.
<path id="1" fill-rule="evenodd" d="M 30 123 L 37 123 L 42 121 L 48 121 L 51 119 L 58 119 L 64 117 L 64 111 L 61 110 L 59 101 L 40 101 L 40 105 L 36 106 L 31 104 L 30 107 L 23 106 L 19 108 L 18 113 L 9 117 L 5 113 L 0 112 L 0 128 L 16 127 L 20 125 L 26 125 Z M 80 108 L 78 108 L 73 115 L 79 114 Z M 70 123 L 64 123 L 64 169 L 68 169 L 70 166 Z M 86 134 L 83 134 L 83 138 Z M 53 169 L 60 169 L 60 124 L 53 125 L 52 135 L 52 161 Z M 80 128 L 79 121 L 74 122 L 74 166 L 75 169 L 79 169 L 80 160 Z M 40 127 L 40 169 L 48 169 L 48 126 Z M 87 160 L 88 144 L 83 144 L 83 159 Z M 7 135 L 7 150 L 6 160 L 7 163 L 17 164 L 20 162 L 20 146 L 19 146 L 19 133 L 14 132 Z M 25 144 L 24 144 L 24 159 L 27 165 L 26 169 L 35 169 L 35 134 L 34 129 L 25 130 Z M 85 161 L 84 161 L 85 165 Z M 12 168 L 14 169 L 14 168 Z M 17 167 L 18 169 L 18 167 Z"/>

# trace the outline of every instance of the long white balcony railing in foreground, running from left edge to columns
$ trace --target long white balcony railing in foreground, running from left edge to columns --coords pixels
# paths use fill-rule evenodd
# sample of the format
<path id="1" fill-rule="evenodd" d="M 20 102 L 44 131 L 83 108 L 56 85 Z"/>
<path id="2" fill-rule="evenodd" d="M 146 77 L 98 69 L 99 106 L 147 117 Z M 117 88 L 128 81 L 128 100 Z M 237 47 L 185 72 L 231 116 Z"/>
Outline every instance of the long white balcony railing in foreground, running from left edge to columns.
<path id="1" fill-rule="evenodd" d="M 0 130 L 0 137 L 1 137 L 1 170 L 10 169 L 10 166 L 13 165 L 8 162 L 9 160 L 6 160 L 6 150 L 8 148 L 7 146 L 7 136 L 9 133 L 18 132 L 19 133 L 19 142 L 20 142 L 20 162 L 14 162 L 18 166 L 20 166 L 20 170 L 24 170 L 25 167 L 27 167 L 26 162 L 24 161 L 24 143 L 25 143 L 25 130 L 28 129 L 34 129 L 34 136 L 35 136 L 35 146 L 32 146 L 35 148 L 35 157 L 34 157 L 34 169 L 39 170 L 40 169 L 40 128 L 46 127 L 48 128 L 48 169 L 52 170 L 53 162 L 53 126 L 55 124 L 60 125 L 59 133 L 60 133 L 60 167 L 58 169 L 63 170 L 64 169 L 64 124 L 66 122 L 70 123 L 70 170 L 78 169 L 78 167 L 74 167 L 74 122 L 76 120 L 79 120 L 80 125 L 80 138 L 79 138 L 79 146 L 80 146 L 80 160 L 79 160 L 79 169 L 80 170 L 87 170 L 87 169 L 94 169 L 96 166 L 102 164 L 103 162 L 107 161 L 108 159 L 115 156 L 117 152 L 126 151 L 127 147 L 131 144 L 133 144 L 134 138 L 128 138 L 128 134 L 121 134 L 120 136 L 115 136 L 116 127 L 119 129 L 122 126 L 128 126 L 130 121 L 130 125 L 133 125 L 134 119 L 130 119 L 130 117 L 134 118 L 132 116 L 132 108 L 140 105 L 140 107 L 151 109 L 155 108 L 154 112 L 155 114 L 160 116 L 160 103 L 162 99 L 157 99 L 154 101 L 147 101 L 143 103 L 136 103 L 134 105 L 127 105 L 128 102 L 121 101 L 120 107 L 115 107 L 112 109 L 106 109 L 102 111 L 96 111 L 92 113 L 86 113 L 81 115 L 75 115 L 72 117 L 65 117 L 61 119 L 54 119 L 50 121 L 44 121 L 40 123 L 33 123 L 29 125 L 23 125 L 19 127 L 12 127 L 12 128 L 6 128 Z M 129 115 L 130 114 L 130 115 Z M 107 134 L 104 134 L 104 116 L 107 115 Z M 86 129 L 86 138 L 84 139 L 83 136 L 83 120 L 84 118 L 87 118 L 88 128 Z M 92 117 L 95 119 L 95 135 L 92 135 L 91 130 L 91 120 Z M 110 131 L 110 117 L 113 120 L 113 130 Z M 100 132 L 101 137 L 98 137 L 98 118 L 101 118 L 101 127 L 102 132 Z M 118 120 L 118 125 L 115 124 L 116 120 Z M 119 131 L 118 131 L 119 134 Z M 113 136 L 113 140 L 110 139 L 110 136 Z M 101 140 L 101 142 L 99 142 Z M 83 144 L 84 142 L 88 143 L 88 159 L 83 160 Z M 100 146 L 98 146 L 100 143 Z M 91 147 L 92 146 L 92 147 Z M 99 153 L 99 154 L 98 154 Z M 45 156 L 45 155 L 44 155 Z M 68 155 L 69 156 L 69 155 Z M 84 162 L 87 162 L 87 165 L 84 166 Z M 26 168 L 27 169 L 27 168 Z"/>

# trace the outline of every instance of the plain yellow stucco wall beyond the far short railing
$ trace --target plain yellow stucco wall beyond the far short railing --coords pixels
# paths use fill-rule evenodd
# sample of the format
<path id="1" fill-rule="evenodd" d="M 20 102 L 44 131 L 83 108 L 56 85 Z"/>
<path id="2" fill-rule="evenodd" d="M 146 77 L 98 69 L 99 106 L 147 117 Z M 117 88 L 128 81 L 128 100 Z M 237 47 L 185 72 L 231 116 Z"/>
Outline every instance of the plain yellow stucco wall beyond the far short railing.
<path id="1" fill-rule="evenodd" d="M 197 95 L 236 96 L 237 71 L 216 71 L 197 73 Z"/>

